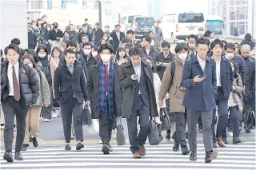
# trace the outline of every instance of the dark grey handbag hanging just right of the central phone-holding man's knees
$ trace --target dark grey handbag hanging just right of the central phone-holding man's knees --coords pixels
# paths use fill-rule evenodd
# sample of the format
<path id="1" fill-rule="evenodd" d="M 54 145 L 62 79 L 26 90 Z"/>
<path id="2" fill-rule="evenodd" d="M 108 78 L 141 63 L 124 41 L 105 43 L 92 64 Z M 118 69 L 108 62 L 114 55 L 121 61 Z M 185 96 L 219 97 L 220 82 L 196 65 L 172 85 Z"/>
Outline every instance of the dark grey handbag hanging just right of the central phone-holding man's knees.
<path id="1" fill-rule="evenodd" d="M 160 136 L 159 136 L 159 132 L 158 132 L 158 124 L 155 123 L 152 120 L 152 117 L 150 118 L 150 130 L 149 130 L 149 133 L 148 133 L 148 138 L 149 138 L 150 145 L 158 145 L 158 144 L 160 144 Z"/>

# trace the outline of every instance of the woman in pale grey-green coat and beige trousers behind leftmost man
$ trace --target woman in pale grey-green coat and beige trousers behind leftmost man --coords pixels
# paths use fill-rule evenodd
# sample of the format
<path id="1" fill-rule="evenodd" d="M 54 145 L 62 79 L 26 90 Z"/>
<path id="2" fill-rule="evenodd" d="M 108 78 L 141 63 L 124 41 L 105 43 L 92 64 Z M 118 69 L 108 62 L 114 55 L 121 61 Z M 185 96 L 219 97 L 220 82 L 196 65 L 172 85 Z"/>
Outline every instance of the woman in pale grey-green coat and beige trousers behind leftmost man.
<path id="1" fill-rule="evenodd" d="M 39 81 L 39 95 L 38 100 L 34 105 L 30 106 L 30 109 L 26 115 L 26 132 L 23 142 L 23 151 L 29 147 L 30 136 L 34 147 L 38 147 L 38 128 L 39 128 L 39 115 L 42 110 L 42 106 L 48 107 L 50 105 L 50 89 L 46 79 L 46 76 L 42 71 L 37 69 L 34 57 L 30 54 L 26 54 L 22 57 L 23 63 L 30 65 L 30 67 L 37 70 Z"/>

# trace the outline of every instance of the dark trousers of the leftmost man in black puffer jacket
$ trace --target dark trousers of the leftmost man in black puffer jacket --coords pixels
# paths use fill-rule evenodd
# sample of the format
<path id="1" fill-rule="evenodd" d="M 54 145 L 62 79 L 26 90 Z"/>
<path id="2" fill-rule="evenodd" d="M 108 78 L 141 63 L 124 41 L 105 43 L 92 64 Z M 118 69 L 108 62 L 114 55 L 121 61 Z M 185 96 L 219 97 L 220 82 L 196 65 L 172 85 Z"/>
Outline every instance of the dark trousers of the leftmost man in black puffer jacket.
<path id="1" fill-rule="evenodd" d="M 14 138 L 14 116 L 16 116 L 16 145 L 15 152 L 22 150 L 22 144 L 26 131 L 26 114 L 29 106 L 22 105 L 22 101 L 15 101 L 14 97 L 7 97 L 5 101 L 2 101 L 2 112 L 5 116 L 5 131 L 4 131 L 4 143 L 6 152 L 11 152 L 13 147 Z"/>

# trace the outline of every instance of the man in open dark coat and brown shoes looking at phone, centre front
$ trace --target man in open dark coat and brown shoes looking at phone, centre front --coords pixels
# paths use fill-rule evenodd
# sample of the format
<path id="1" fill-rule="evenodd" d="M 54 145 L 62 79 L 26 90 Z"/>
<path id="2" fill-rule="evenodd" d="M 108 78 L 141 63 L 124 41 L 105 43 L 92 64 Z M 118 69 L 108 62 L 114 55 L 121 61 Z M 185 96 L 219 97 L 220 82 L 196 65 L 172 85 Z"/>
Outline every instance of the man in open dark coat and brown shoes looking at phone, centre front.
<path id="1" fill-rule="evenodd" d="M 120 85 L 124 89 L 122 117 L 126 118 L 130 151 L 134 158 L 146 155 L 144 144 L 149 132 L 149 117 L 158 117 L 154 95 L 153 71 L 142 61 L 142 49 L 134 47 L 129 52 L 130 61 L 122 65 Z M 137 117 L 140 132 L 137 136 Z"/>

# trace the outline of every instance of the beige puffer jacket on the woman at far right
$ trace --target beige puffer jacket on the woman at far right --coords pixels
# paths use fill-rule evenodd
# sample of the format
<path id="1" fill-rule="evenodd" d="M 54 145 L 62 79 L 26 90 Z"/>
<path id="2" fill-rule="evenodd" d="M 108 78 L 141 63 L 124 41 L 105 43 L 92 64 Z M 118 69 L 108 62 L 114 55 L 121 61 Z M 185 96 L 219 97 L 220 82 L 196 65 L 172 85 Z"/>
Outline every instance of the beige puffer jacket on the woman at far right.
<path id="1" fill-rule="evenodd" d="M 238 74 L 238 77 L 234 78 L 233 87 L 234 87 L 234 90 L 232 90 L 230 93 L 228 107 L 238 105 L 239 111 L 242 112 L 243 105 L 238 93 L 242 93 L 243 85 L 242 85 L 242 78 L 240 77 L 239 74 Z"/>

